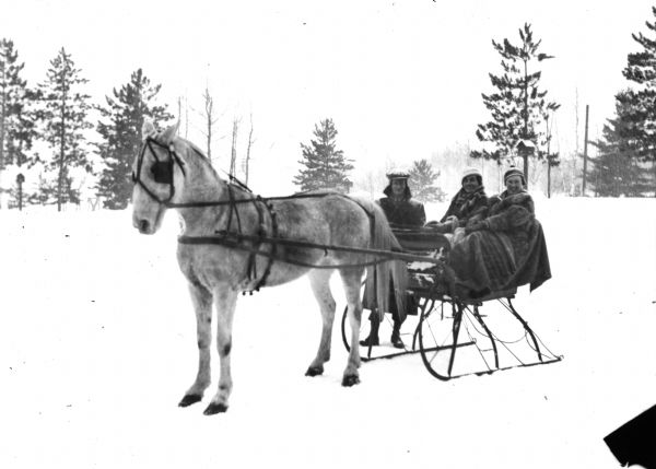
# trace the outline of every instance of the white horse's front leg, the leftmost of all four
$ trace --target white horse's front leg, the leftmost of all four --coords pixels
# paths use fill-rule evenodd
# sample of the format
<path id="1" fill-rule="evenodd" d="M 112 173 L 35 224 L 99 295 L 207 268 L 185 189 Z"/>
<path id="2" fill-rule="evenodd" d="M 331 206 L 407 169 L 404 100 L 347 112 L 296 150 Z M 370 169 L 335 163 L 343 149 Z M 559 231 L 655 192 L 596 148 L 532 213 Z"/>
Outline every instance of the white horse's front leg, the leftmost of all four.
<path id="1" fill-rule="evenodd" d="M 212 342 L 212 293 L 200 284 L 189 283 L 189 293 L 196 310 L 196 333 L 198 337 L 198 374 L 196 380 L 178 403 L 187 407 L 199 402 L 210 385 L 210 344 Z"/>

